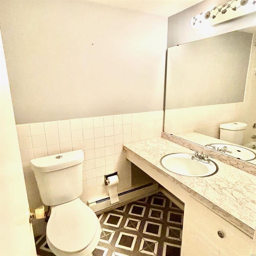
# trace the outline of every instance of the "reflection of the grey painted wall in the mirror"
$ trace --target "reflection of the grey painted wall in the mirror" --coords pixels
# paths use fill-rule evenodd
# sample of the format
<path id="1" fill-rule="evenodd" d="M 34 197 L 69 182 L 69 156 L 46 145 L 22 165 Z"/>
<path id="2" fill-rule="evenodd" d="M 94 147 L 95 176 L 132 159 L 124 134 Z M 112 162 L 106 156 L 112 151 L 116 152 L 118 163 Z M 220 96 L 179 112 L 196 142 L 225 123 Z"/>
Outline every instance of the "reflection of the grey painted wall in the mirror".
<path id="1" fill-rule="evenodd" d="M 243 102 L 252 35 L 235 31 L 168 48 L 166 109 Z"/>

